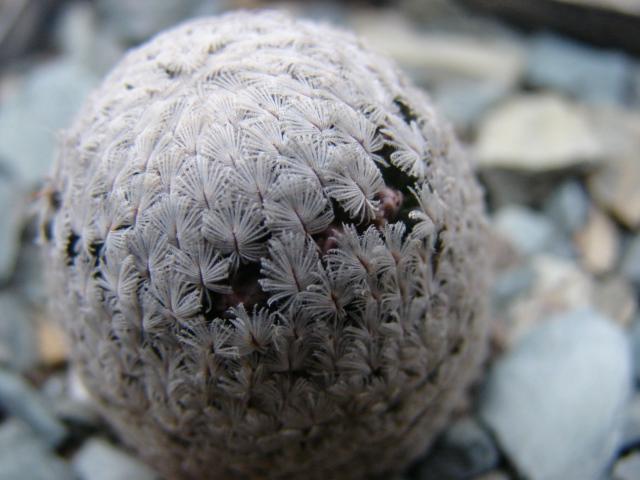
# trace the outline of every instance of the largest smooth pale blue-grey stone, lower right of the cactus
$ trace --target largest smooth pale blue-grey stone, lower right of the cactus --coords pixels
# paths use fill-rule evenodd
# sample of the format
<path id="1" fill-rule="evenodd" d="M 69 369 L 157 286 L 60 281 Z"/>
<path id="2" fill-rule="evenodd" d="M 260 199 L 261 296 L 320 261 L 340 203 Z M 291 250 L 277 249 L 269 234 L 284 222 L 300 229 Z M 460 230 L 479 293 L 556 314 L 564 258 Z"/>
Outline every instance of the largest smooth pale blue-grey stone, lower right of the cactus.
<path id="1" fill-rule="evenodd" d="M 631 392 L 622 331 L 592 310 L 542 323 L 492 369 L 480 415 L 531 480 L 600 479 Z"/>

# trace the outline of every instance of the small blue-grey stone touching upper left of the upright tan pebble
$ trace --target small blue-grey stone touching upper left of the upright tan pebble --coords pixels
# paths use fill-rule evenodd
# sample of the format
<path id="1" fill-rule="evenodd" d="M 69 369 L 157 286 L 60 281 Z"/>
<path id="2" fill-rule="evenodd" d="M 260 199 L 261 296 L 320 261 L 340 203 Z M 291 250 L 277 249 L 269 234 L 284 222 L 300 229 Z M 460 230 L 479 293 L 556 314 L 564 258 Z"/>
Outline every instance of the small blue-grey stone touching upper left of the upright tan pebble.
<path id="1" fill-rule="evenodd" d="M 589 196 L 580 183 L 569 180 L 553 192 L 544 209 L 556 226 L 573 234 L 586 223 L 589 203 Z"/>

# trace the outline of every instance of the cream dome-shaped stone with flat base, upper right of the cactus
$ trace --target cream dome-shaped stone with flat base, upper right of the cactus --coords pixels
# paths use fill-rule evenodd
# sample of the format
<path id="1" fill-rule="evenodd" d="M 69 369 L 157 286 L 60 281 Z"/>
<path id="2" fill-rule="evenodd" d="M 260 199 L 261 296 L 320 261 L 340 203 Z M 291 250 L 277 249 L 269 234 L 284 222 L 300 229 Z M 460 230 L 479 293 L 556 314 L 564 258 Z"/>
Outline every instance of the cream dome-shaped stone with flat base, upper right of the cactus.
<path id="1" fill-rule="evenodd" d="M 494 109 L 475 148 L 481 167 L 529 172 L 591 164 L 602 155 L 584 110 L 551 94 L 513 97 Z"/>

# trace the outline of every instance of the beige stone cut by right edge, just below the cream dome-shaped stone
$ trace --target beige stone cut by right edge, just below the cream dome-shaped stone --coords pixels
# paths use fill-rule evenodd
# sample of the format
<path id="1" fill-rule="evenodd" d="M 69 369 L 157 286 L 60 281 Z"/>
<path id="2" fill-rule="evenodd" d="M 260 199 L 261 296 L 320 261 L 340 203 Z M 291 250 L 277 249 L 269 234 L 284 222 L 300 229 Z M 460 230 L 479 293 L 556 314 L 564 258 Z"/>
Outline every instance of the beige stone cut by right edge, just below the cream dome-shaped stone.
<path id="1" fill-rule="evenodd" d="M 589 177 L 596 202 L 631 229 L 640 227 L 640 161 L 637 152 L 610 158 Z"/>

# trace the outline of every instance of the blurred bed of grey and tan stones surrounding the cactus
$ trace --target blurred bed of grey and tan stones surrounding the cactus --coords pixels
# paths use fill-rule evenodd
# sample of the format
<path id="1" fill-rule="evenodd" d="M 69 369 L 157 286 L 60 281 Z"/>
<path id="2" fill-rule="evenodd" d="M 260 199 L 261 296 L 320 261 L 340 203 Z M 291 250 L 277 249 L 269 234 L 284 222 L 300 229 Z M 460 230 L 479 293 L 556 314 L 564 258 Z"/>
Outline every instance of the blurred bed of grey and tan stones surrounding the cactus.
<path id="1" fill-rule="evenodd" d="M 0 480 L 153 479 L 67 366 L 32 205 L 56 131 L 126 48 L 255 2 L 43 3 L 56 15 L 38 48 L 4 42 L 13 60 L 0 67 Z M 355 29 L 427 88 L 487 191 L 498 268 L 487 376 L 403 478 L 640 478 L 639 60 L 442 0 L 297 5 Z M 0 21 L 0 47 L 6 31 Z"/>

